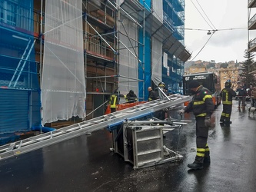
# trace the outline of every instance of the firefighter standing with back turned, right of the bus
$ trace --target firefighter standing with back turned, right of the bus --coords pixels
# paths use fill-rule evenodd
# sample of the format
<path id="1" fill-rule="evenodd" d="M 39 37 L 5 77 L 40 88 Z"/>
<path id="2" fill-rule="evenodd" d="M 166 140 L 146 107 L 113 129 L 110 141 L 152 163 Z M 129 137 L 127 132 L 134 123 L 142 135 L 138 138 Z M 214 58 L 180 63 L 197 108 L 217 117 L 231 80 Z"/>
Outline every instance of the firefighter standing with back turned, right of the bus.
<path id="1" fill-rule="evenodd" d="M 231 81 L 225 82 L 225 88 L 221 90 L 221 100 L 223 104 L 223 110 L 221 113 L 220 122 L 222 124 L 230 124 L 231 112 L 232 112 L 232 100 L 236 93 L 231 89 Z"/>

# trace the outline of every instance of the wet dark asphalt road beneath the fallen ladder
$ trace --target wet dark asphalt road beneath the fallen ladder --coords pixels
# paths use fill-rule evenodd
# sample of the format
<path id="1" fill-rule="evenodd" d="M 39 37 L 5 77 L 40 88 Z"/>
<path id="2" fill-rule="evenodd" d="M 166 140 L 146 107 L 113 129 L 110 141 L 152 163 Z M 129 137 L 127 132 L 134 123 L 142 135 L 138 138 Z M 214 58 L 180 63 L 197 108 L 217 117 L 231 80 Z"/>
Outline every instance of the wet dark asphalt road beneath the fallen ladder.
<path id="1" fill-rule="evenodd" d="M 187 167 L 195 157 L 195 127 L 186 114 L 193 121 L 164 139 L 181 161 L 133 170 L 109 150 L 111 134 L 101 130 L 0 161 L 0 191 L 255 191 L 256 114 L 248 117 L 248 108 L 237 106 L 234 101 L 230 127 L 218 123 L 222 105 L 214 111 L 211 165 L 203 170 Z"/>

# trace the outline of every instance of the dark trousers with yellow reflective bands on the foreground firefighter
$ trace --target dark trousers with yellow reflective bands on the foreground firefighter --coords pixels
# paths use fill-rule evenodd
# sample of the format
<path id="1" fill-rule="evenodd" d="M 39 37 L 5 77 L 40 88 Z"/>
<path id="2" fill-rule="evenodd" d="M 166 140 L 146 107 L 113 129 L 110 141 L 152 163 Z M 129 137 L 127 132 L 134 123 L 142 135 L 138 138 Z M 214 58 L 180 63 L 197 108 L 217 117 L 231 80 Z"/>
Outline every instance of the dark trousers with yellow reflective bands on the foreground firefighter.
<path id="1" fill-rule="evenodd" d="M 195 156 L 195 161 L 197 163 L 203 163 L 204 157 L 210 157 L 210 150 L 207 144 L 208 130 L 209 127 L 204 125 L 205 117 L 197 117 L 196 120 L 196 144 L 197 144 L 197 154 Z"/>

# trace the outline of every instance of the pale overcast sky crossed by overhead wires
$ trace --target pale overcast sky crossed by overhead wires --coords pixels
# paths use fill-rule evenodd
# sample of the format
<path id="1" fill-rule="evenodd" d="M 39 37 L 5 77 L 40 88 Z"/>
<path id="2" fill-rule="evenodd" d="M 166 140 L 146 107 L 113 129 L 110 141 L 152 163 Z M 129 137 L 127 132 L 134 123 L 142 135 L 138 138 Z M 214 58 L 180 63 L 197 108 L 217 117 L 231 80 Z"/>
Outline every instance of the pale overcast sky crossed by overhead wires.
<path id="1" fill-rule="evenodd" d="M 256 8 L 254 9 L 256 11 Z M 251 9 L 250 18 L 254 15 L 254 9 Z M 231 28 L 243 29 L 231 30 Z M 211 39 L 193 61 L 244 61 L 248 39 L 256 38 L 255 31 L 248 34 L 247 28 L 248 0 L 185 0 L 185 46 L 192 54 L 189 61 L 198 54 L 210 37 Z M 220 31 L 215 31 L 211 36 L 207 35 L 208 31 L 201 29 Z"/>

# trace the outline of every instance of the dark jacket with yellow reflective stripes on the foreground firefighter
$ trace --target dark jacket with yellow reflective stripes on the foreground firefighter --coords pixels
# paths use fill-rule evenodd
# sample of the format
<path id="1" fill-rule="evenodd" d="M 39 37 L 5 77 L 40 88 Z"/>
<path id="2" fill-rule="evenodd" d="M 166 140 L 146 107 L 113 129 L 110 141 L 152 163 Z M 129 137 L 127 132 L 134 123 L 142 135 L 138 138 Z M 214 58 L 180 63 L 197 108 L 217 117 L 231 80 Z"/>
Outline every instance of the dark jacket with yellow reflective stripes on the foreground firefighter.
<path id="1" fill-rule="evenodd" d="M 198 88 L 194 98 L 185 108 L 185 112 L 193 111 L 195 117 L 211 117 L 214 111 L 214 103 L 211 97 L 211 91 L 203 86 Z"/>

